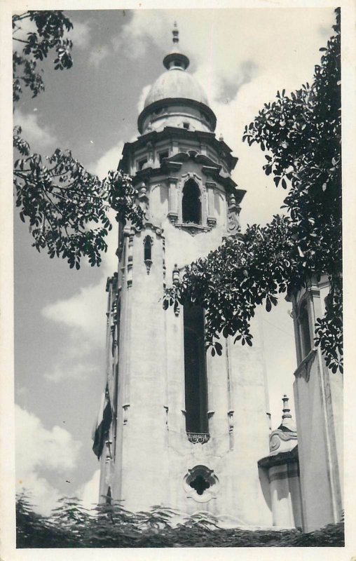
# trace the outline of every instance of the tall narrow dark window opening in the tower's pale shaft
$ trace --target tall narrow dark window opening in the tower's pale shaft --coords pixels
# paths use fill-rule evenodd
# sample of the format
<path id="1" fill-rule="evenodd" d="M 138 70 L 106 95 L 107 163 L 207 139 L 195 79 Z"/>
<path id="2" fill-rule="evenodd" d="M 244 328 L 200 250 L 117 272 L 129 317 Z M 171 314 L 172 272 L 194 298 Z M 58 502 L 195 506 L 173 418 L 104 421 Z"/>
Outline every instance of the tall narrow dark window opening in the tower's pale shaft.
<path id="1" fill-rule="evenodd" d="M 184 306 L 184 379 L 186 432 L 207 433 L 207 374 L 204 314 L 200 306 Z"/>

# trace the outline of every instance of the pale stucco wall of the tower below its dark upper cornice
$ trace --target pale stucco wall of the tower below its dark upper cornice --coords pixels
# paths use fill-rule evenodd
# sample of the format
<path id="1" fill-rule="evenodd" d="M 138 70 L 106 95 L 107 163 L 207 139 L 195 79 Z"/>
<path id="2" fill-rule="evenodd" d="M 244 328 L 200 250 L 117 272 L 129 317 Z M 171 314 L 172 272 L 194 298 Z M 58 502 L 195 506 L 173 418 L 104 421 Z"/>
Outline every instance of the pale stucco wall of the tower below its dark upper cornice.
<path id="1" fill-rule="evenodd" d="M 132 511 L 162 503 L 185 513 L 205 510 L 234 524 L 271 527 L 268 481 L 257 466 L 268 454 L 269 435 L 258 318 L 252 348 L 231 339 L 223 341 L 221 357 L 207 354 L 210 440 L 193 444 L 186 435 L 183 311 L 163 311 L 162 297 L 175 264 L 183 269 L 206 256 L 226 235 L 225 189 L 202 167 L 190 158 L 175 179 L 154 175 L 146 184 L 149 223 L 140 232 L 128 228 L 125 233 L 118 267 L 118 430 L 111 489 L 114 499 Z M 179 224 L 182 178 L 192 174 L 202 204 L 195 235 Z M 172 210 L 176 225 L 167 217 Z M 217 223 L 210 226 L 208 217 Z M 146 235 L 153 238 L 149 273 Z M 212 481 L 201 496 L 186 481 L 197 466 L 205 466 Z"/>

